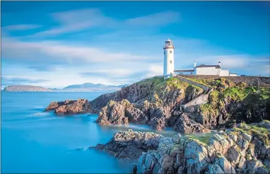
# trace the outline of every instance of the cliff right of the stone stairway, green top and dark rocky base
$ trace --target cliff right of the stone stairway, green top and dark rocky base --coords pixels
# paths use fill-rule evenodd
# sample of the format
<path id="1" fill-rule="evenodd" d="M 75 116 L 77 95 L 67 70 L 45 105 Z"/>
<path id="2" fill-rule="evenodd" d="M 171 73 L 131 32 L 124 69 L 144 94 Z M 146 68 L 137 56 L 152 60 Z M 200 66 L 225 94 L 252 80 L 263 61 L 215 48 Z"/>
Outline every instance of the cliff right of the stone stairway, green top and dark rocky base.
<path id="1" fill-rule="evenodd" d="M 202 80 L 201 83 L 211 85 L 214 89 L 209 102 L 200 105 L 194 114 L 196 121 L 203 126 L 215 129 L 241 121 L 251 123 L 270 120 L 269 87 L 260 87 L 258 90 L 247 83 L 234 83 L 225 78 Z"/>

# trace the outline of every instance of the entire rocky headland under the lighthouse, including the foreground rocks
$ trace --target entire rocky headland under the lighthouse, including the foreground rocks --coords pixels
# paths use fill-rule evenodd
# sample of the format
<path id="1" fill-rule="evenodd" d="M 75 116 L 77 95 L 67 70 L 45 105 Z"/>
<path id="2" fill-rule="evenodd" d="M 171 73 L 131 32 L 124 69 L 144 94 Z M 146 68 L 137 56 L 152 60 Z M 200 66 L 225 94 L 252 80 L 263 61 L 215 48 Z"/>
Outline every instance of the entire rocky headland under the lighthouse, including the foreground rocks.
<path id="1" fill-rule="evenodd" d="M 51 102 L 58 116 L 98 113 L 100 126 L 146 124 L 180 134 L 116 133 L 98 144 L 117 158 L 137 159 L 132 173 L 269 173 L 270 78 L 146 78 L 86 99 Z"/>

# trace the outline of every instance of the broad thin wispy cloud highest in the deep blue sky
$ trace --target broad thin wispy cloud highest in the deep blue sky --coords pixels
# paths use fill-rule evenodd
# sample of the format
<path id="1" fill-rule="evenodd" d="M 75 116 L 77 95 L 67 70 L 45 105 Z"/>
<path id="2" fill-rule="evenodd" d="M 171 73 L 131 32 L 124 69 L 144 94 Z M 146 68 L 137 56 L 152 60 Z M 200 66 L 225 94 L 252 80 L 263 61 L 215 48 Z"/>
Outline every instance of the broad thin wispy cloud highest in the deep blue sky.
<path id="1" fill-rule="evenodd" d="M 97 8 L 55 12 L 50 14 L 50 17 L 52 17 L 52 20 L 58 23 L 58 25 L 53 26 L 49 30 L 21 36 L 21 38 L 29 39 L 43 36 L 58 36 L 59 34 L 70 34 L 72 32 L 93 28 L 109 28 L 113 30 L 134 30 L 135 28 L 145 29 L 146 27 L 155 28 L 157 26 L 168 25 L 180 21 L 179 12 L 159 12 L 156 14 L 119 20 L 106 17 Z"/>

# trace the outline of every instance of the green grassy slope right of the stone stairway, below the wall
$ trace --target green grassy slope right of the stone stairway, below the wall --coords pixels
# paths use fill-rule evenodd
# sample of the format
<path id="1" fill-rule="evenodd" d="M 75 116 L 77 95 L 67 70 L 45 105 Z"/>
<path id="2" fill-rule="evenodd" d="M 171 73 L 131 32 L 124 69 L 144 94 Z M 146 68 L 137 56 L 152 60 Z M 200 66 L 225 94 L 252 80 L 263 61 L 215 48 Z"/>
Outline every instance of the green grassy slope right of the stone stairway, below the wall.
<path id="1" fill-rule="evenodd" d="M 210 102 L 201 105 L 201 111 L 208 116 L 216 116 L 224 106 L 225 100 L 233 102 L 245 102 L 249 107 L 256 105 L 270 96 L 270 89 L 266 87 L 260 87 L 258 90 L 256 87 L 250 87 L 245 83 L 233 83 L 225 78 L 220 79 L 190 79 L 203 85 L 208 85 L 214 88 L 214 91 L 210 94 Z"/>

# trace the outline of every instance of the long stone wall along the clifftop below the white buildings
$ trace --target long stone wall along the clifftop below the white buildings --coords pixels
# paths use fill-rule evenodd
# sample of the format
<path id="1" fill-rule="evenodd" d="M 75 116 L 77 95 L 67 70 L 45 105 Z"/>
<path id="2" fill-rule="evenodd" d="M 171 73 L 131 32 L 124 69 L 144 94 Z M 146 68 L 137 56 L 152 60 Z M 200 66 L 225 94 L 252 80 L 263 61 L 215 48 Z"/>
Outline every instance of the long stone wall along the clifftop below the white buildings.
<path id="1" fill-rule="evenodd" d="M 216 78 L 226 78 L 228 80 L 234 81 L 234 83 L 247 83 L 249 85 L 258 85 L 258 76 L 211 76 L 211 75 L 177 75 L 184 78 L 194 78 L 194 79 L 216 79 Z M 260 87 L 270 87 L 270 77 L 259 77 Z"/>

